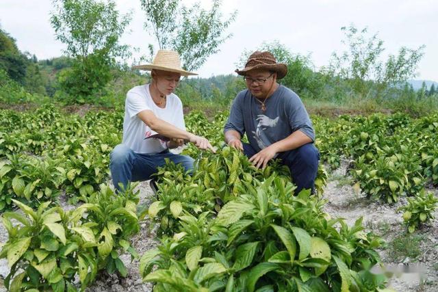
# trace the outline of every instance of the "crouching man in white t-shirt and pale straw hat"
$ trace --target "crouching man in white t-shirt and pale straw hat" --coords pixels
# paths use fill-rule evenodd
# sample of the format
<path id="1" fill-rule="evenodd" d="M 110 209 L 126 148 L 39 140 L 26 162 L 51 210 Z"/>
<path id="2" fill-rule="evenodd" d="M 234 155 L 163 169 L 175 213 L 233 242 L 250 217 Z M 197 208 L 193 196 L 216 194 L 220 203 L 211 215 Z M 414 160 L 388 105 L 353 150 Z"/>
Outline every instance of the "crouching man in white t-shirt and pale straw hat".
<path id="1" fill-rule="evenodd" d="M 183 105 L 173 92 L 181 75 L 196 73 L 181 68 L 178 53 L 159 50 L 153 64 L 133 68 L 151 70 L 152 81 L 127 93 L 123 142 L 110 155 L 112 181 L 118 190 L 131 181 L 150 179 L 166 158 L 192 170 L 192 157 L 169 152 L 184 141 L 214 151 L 207 139 L 185 131 Z"/>

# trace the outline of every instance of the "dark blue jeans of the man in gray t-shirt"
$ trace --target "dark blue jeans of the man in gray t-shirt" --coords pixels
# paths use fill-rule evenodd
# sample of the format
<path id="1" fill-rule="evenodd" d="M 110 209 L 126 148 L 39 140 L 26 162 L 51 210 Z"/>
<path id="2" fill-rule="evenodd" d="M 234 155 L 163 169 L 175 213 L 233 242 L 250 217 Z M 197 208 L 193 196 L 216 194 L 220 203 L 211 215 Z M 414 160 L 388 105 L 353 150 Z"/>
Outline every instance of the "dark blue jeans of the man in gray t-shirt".
<path id="1" fill-rule="evenodd" d="M 243 146 L 244 153 L 248 158 L 257 153 L 250 144 L 243 143 Z M 292 181 L 297 187 L 295 194 L 298 194 L 302 189 L 311 189 L 312 194 L 314 193 L 320 153 L 313 143 L 304 144 L 294 150 L 280 152 L 276 158 L 281 159 L 281 162 L 289 168 Z"/>

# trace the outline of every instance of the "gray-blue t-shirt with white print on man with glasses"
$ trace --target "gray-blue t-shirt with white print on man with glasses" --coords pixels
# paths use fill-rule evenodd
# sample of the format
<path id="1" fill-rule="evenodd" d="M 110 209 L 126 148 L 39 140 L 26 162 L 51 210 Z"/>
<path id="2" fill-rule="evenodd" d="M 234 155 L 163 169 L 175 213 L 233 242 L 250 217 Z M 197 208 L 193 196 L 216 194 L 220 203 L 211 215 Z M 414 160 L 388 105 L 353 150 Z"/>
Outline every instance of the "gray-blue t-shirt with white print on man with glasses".
<path id="1" fill-rule="evenodd" d="M 265 102 L 266 110 L 249 90 L 237 94 L 231 107 L 224 132 L 235 130 L 248 137 L 250 145 L 257 151 L 270 146 L 295 131 L 302 131 L 315 141 L 309 114 L 295 92 L 283 85 Z"/>

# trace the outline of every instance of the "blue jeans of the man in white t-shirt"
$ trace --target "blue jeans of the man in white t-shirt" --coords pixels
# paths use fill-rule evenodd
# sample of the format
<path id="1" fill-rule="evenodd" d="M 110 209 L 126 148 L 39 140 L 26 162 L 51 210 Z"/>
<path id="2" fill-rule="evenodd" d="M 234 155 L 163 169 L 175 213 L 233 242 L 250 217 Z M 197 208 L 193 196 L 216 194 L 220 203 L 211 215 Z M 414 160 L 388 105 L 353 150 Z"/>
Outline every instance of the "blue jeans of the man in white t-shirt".
<path id="1" fill-rule="evenodd" d="M 157 154 L 133 152 L 125 144 L 118 144 L 110 154 L 112 183 L 120 191 L 119 183 L 126 187 L 131 181 L 146 181 L 157 172 L 159 166 L 166 164 L 165 158 L 175 164 L 181 163 L 184 169 L 193 170 L 193 159 L 186 155 L 177 155 L 165 150 Z"/>

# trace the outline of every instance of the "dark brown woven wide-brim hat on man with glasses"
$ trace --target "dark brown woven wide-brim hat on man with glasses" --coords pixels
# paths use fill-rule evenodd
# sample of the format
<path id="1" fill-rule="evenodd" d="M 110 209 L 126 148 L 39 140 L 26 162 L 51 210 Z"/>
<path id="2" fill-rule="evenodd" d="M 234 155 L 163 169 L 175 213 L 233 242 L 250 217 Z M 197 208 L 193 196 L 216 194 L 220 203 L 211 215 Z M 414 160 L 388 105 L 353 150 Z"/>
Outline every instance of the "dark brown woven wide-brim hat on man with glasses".
<path id="1" fill-rule="evenodd" d="M 276 79 L 282 79 L 287 75 L 287 66 L 283 63 L 277 63 L 272 53 L 265 51 L 255 51 L 248 57 L 248 62 L 242 70 L 235 70 L 238 75 L 245 76 L 250 70 L 265 69 L 276 72 Z"/>

